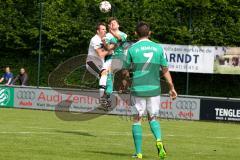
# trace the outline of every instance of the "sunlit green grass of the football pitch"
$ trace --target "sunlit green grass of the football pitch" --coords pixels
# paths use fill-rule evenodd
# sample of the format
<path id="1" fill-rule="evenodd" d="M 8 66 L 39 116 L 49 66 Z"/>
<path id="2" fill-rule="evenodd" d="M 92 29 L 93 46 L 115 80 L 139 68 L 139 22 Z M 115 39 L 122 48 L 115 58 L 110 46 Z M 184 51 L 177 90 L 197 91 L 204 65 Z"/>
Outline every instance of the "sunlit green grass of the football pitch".
<path id="1" fill-rule="evenodd" d="M 157 160 L 155 142 L 143 123 L 143 155 Z M 161 120 L 167 160 L 237 160 L 239 124 Z M 1 160 L 130 160 L 131 121 L 100 116 L 63 121 L 54 112 L 0 108 Z"/>

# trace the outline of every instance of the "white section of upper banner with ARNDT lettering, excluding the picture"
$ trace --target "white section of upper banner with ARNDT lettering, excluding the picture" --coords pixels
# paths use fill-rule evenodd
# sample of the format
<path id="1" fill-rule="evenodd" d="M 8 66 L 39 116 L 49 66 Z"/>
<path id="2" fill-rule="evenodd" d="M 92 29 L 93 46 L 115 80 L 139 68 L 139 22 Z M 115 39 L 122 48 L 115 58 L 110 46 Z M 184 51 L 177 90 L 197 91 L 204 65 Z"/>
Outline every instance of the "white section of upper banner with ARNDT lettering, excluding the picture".
<path id="1" fill-rule="evenodd" d="M 215 47 L 162 44 L 170 71 L 213 73 Z"/>

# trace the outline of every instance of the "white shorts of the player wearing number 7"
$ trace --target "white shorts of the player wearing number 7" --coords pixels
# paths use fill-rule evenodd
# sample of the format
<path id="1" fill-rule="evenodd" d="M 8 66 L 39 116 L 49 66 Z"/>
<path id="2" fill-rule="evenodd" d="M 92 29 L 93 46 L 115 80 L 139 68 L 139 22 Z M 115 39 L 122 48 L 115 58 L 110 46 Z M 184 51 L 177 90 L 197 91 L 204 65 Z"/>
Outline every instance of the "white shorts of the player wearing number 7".
<path id="1" fill-rule="evenodd" d="M 146 111 L 150 117 L 159 115 L 160 110 L 160 96 L 155 97 L 136 97 L 131 98 L 133 113 L 137 113 L 140 117 L 143 116 Z"/>

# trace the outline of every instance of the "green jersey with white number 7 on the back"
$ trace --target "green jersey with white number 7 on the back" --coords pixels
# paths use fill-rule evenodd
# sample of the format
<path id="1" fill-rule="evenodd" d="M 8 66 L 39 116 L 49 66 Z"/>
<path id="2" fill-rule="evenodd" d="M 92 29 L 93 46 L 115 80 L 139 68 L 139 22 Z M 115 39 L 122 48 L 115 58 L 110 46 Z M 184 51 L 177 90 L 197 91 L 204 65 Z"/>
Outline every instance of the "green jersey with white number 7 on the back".
<path id="1" fill-rule="evenodd" d="M 160 95 L 160 67 L 168 67 L 160 44 L 148 39 L 133 44 L 127 54 L 127 64 L 133 64 L 132 94 L 139 97 Z"/>

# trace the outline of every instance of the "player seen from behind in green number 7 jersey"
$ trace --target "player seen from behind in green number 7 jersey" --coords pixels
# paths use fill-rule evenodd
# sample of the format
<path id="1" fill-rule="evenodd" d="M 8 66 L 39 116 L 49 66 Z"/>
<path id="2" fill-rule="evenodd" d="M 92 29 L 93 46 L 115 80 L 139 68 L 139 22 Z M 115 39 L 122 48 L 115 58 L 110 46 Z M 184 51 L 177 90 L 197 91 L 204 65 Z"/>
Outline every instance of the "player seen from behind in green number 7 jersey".
<path id="1" fill-rule="evenodd" d="M 162 75 L 169 84 L 169 94 L 172 99 L 177 97 L 174 89 L 168 64 L 161 45 L 148 39 L 150 35 L 149 25 L 140 22 L 136 27 L 136 33 L 139 41 L 133 44 L 127 54 L 127 64 L 132 64 L 132 102 L 136 110 L 134 123 L 132 125 L 132 134 L 136 149 L 135 157 L 142 159 L 142 126 L 141 118 L 145 111 L 148 114 L 149 125 L 156 139 L 158 156 L 162 160 L 166 157 L 166 151 L 163 146 L 160 124 L 156 117 L 160 108 L 160 68 Z"/>

